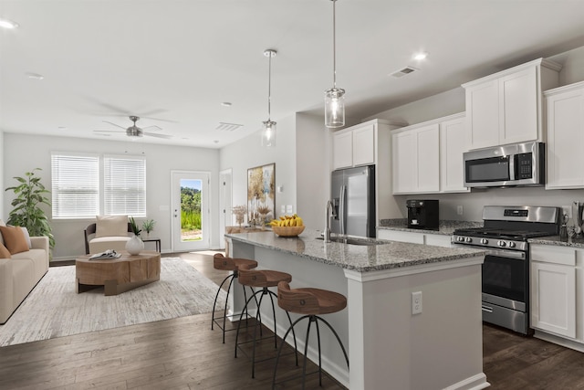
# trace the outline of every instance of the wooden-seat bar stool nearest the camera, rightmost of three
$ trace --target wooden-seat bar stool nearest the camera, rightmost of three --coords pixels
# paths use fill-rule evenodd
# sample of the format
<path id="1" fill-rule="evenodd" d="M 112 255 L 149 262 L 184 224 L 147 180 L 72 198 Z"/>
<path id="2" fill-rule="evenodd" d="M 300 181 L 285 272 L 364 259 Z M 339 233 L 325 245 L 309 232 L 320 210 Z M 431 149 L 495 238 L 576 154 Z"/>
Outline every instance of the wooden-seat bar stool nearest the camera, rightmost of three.
<path id="1" fill-rule="evenodd" d="M 290 289 L 290 285 L 287 281 L 281 281 L 277 284 L 277 304 L 280 308 L 284 309 L 285 311 L 295 312 L 297 314 L 304 314 L 302 317 L 298 318 L 297 321 L 294 321 L 290 325 L 290 328 L 284 334 L 282 338 L 283 343 L 280 344 L 280 348 L 278 349 L 277 356 L 276 356 L 276 364 L 274 365 L 274 376 L 272 378 L 272 389 L 276 386 L 276 370 L 277 370 L 277 363 L 280 359 L 280 353 L 282 352 L 282 345 L 284 345 L 284 341 L 286 341 L 287 335 L 290 331 L 294 329 L 294 326 L 304 320 L 308 319 L 308 328 L 307 328 L 307 337 L 304 342 L 304 364 L 302 366 L 302 388 L 305 388 L 305 381 L 307 376 L 307 353 L 308 353 L 308 336 L 310 335 L 310 326 L 312 322 L 315 322 L 317 325 L 317 340 L 318 340 L 318 371 L 309 374 L 316 374 L 318 373 L 318 384 L 322 385 L 322 362 L 320 357 L 320 330 L 318 329 L 318 321 L 322 321 L 325 325 L 328 326 L 331 332 L 337 338 L 339 342 L 340 348 L 342 349 L 345 355 L 345 361 L 347 362 L 347 367 L 349 367 L 349 356 L 347 355 L 347 351 L 343 346 L 343 343 L 340 341 L 339 334 L 335 332 L 332 326 L 325 321 L 320 314 L 329 314 L 337 311 L 341 311 L 347 307 L 347 298 L 344 295 L 339 294 L 338 292 L 330 291 L 330 290 L 320 290 L 320 289 L 312 289 L 312 288 L 305 288 L 305 289 Z M 293 378 L 289 378 L 293 379 Z M 287 380 L 289 380 L 287 379 Z"/>

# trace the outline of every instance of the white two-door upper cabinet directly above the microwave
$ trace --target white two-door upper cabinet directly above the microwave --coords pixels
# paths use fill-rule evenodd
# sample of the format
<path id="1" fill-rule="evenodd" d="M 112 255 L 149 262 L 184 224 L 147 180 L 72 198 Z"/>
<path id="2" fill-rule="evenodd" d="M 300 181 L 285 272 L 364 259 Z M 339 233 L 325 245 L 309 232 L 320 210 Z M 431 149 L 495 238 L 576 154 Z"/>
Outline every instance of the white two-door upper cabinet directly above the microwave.
<path id="1" fill-rule="evenodd" d="M 463 84 L 469 149 L 544 142 L 542 91 L 558 86 L 559 69 L 539 58 Z"/>

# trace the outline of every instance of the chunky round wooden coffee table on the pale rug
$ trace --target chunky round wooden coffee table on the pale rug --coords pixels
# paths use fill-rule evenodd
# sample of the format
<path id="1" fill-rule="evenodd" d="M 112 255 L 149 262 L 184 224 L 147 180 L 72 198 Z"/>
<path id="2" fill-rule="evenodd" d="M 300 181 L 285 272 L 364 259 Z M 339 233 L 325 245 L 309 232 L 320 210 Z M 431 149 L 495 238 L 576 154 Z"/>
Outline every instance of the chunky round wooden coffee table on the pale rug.
<path id="1" fill-rule="evenodd" d="M 123 251 L 116 259 L 75 259 L 77 292 L 104 286 L 105 295 L 118 295 L 161 279 L 161 254 L 142 250 L 140 255 Z"/>

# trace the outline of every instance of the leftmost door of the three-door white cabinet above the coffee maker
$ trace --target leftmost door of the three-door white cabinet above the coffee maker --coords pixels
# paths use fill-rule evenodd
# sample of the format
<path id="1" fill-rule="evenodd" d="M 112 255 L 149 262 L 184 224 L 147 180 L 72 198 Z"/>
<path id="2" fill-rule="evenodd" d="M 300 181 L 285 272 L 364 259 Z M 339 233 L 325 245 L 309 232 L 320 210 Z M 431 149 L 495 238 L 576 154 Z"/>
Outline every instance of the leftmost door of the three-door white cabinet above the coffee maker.
<path id="1" fill-rule="evenodd" d="M 415 192 L 417 181 L 415 132 L 391 134 L 391 173 L 393 194 Z"/>

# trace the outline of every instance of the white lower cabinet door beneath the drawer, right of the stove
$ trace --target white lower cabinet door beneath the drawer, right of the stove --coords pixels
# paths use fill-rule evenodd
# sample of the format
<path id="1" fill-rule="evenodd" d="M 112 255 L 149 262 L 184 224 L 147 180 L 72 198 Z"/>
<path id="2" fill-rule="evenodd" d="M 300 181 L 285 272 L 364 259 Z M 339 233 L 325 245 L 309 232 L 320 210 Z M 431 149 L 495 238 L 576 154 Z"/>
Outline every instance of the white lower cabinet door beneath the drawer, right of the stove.
<path id="1" fill-rule="evenodd" d="M 576 337 L 576 269 L 531 263 L 531 326 Z"/>

